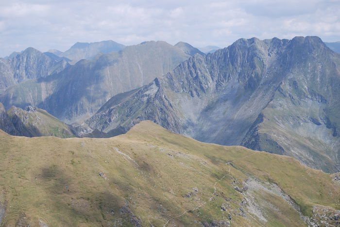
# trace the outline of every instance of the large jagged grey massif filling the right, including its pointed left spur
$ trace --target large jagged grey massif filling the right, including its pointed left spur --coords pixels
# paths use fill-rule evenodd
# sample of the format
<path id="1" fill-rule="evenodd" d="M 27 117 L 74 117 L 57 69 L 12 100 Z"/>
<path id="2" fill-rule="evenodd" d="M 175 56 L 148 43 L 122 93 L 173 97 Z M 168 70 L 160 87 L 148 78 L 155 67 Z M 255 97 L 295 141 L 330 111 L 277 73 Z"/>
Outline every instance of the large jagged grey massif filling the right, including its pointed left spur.
<path id="1" fill-rule="evenodd" d="M 335 172 L 339 88 L 340 56 L 318 37 L 240 39 L 113 97 L 86 123 L 110 132 L 152 120 L 201 141 L 286 154 Z"/>

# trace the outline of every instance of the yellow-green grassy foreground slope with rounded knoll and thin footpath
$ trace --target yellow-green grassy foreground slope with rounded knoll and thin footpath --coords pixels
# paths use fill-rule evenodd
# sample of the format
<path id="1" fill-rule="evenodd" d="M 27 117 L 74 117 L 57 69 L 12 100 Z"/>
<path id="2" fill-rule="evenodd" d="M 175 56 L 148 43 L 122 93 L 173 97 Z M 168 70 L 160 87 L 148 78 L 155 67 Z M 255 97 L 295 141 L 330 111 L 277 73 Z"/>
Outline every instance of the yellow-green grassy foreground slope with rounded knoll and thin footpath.
<path id="1" fill-rule="evenodd" d="M 138 219 L 142 226 L 163 226 L 175 216 L 167 225 L 199 226 L 228 220 L 228 213 L 232 226 L 304 225 L 282 197 L 256 188 L 236 191 L 247 178 L 277 183 L 307 215 L 314 204 L 340 208 L 340 187 L 329 174 L 287 156 L 198 142 L 150 121 L 112 138 L 0 132 L 3 226 L 34 227 L 39 220 L 50 227 L 131 226 Z M 196 195 L 185 197 L 192 188 Z M 245 197 L 262 207 L 266 221 L 238 214 Z"/>

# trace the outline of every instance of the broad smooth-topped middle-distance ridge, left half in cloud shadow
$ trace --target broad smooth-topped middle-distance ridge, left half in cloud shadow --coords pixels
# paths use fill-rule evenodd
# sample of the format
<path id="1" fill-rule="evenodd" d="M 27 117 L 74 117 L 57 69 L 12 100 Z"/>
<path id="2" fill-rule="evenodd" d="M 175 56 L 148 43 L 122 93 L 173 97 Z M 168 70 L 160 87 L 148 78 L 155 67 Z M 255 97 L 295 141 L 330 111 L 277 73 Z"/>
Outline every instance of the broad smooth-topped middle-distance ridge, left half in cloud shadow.
<path id="1" fill-rule="evenodd" d="M 164 75 L 190 56 L 166 42 L 145 42 L 82 60 L 60 73 L 25 81 L 0 96 L 10 106 L 38 106 L 68 123 L 87 119 L 113 95 Z"/>

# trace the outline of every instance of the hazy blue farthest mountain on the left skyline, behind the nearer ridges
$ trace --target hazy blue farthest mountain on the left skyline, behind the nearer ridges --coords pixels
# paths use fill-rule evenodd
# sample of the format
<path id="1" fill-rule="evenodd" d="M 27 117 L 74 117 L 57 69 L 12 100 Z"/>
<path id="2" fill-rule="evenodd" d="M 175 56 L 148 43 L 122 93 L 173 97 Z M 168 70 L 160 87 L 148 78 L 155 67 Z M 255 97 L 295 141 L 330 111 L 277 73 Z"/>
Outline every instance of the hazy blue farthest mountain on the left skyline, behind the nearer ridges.
<path id="1" fill-rule="evenodd" d="M 73 60 L 73 63 L 81 59 L 92 59 L 97 54 L 106 54 L 112 51 L 119 51 L 125 46 L 112 40 L 95 43 L 76 43 L 64 53 L 54 53 L 59 57 L 66 57 Z"/>

